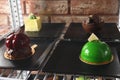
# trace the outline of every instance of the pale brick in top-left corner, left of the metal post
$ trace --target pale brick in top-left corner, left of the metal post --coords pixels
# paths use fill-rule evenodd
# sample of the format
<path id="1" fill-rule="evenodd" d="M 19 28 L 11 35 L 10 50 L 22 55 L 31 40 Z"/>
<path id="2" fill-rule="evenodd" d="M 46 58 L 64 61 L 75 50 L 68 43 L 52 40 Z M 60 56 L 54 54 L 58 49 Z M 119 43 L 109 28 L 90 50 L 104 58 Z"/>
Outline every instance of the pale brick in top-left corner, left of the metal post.
<path id="1" fill-rule="evenodd" d="M 10 13 L 8 0 L 0 0 L 0 13 Z"/>

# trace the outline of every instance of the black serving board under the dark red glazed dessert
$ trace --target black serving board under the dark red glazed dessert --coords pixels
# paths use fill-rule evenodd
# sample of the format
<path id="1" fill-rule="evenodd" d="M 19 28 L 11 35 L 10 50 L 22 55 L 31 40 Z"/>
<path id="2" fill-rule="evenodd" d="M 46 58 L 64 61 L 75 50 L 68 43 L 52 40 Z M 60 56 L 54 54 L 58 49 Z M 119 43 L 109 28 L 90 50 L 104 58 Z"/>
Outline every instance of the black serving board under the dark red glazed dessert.
<path id="1" fill-rule="evenodd" d="M 27 59 L 24 60 L 8 60 L 5 59 L 3 54 L 6 50 L 5 46 L 5 40 L 2 40 L 0 42 L 0 68 L 7 68 L 7 69 L 20 69 L 20 70 L 37 70 L 39 67 L 39 64 L 41 63 L 40 60 L 42 60 L 41 56 L 46 55 L 47 53 L 44 53 L 46 48 L 48 48 L 49 45 L 52 45 L 54 41 L 48 40 L 48 39 L 32 39 L 31 44 L 37 44 L 38 47 L 35 49 L 35 54 Z M 44 53 L 44 54 L 43 54 Z"/>

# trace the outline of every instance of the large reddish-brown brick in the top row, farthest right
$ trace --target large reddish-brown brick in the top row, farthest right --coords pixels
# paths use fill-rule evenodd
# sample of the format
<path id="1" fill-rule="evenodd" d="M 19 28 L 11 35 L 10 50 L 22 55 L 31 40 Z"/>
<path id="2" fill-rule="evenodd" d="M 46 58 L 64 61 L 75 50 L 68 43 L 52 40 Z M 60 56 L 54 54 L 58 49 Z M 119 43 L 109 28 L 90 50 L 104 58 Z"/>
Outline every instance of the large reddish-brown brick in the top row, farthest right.
<path id="1" fill-rule="evenodd" d="M 117 14 L 118 0 L 71 0 L 71 14 Z"/>

